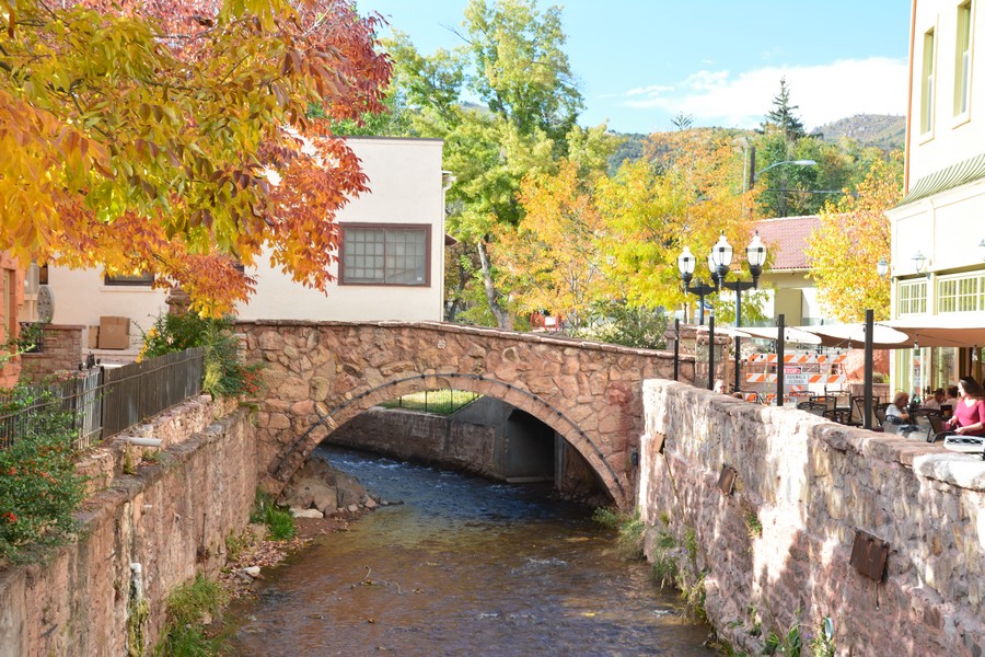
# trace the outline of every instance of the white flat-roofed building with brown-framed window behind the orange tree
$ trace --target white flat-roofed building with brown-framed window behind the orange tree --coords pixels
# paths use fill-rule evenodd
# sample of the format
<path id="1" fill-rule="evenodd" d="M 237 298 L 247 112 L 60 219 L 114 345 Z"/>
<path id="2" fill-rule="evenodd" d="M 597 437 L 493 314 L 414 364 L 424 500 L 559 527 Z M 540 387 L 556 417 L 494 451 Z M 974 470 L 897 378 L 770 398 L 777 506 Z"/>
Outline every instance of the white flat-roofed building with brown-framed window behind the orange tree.
<path id="1" fill-rule="evenodd" d="M 440 321 L 444 292 L 444 192 L 439 139 L 350 138 L 371 192 L 337 215 L 339 262 L 327 295 L 308 289 L 260 258 L 256 293 L 236 309 L 244 320 Z M 99 324 L 130 318 L 132 343 L 165 312 L 150 280 L 107 279 L 96 269 L 50 267 L 54 323 Z M 84 338 L 83 338 L 84 344 Z"/>

